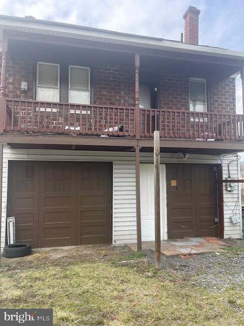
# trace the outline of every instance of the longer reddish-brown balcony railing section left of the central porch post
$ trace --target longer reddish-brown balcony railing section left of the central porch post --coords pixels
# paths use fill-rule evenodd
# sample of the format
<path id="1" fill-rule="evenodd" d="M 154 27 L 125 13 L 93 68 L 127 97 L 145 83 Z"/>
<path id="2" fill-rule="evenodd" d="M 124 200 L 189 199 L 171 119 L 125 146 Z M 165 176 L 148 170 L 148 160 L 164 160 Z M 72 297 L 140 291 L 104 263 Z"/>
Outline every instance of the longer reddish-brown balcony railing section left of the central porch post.
<path id="1" fill-rule="evenodd" d="M 135 134 L 134 107 L 18 99 L 7 99 L 5 102 L 6 131 L 124 136 Z"/>

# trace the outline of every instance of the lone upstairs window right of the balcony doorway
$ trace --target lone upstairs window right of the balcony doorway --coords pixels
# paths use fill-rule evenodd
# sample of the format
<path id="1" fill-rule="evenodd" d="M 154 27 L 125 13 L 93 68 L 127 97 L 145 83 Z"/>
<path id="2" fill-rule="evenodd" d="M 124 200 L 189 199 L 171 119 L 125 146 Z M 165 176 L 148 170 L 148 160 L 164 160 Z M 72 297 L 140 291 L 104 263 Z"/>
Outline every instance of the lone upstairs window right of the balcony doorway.
<path id="1" fill-rule="evenodd" d="M 206 79 L 190 78 L 190 111 L 207 112 Z"/>

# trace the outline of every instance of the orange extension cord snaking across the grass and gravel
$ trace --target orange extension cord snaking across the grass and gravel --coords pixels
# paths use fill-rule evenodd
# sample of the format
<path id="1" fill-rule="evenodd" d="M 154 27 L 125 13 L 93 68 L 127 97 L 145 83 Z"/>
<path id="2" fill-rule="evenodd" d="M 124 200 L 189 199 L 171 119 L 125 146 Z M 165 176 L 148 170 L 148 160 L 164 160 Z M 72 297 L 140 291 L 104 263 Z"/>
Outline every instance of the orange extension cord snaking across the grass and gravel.
<path id="1" fill-rule="evenodd" d="M 216 238 L 211 238 L 211 237 L 205 237 L 205 239 L 206 239 L 206 241 L 207 242 L 210 242 L 210 243 L 214 243 L 214 244 L 216 244 Z M 217 240 L 218 241 L 218 240 Z M 194 250 L 194 248 L 197 248 L 197 247 L 200 247 L 202 245 L 202 243 L 199 243 L 199 244 L 196 244 L 196 246 L 194 246 L 192 249 L 191 249 L 191 251 L 189 252 L 189 253 L 180 253 L 179 254 L 179 257 L 180 258 L 182 258 L 182 259 L 189 259 L 188 260 L 188 262 L 190 263 L 195 257 L 196 257 L 196 255 L 192 252 L 192 250 Z M 196 264 L 194 264 L 194 265 L 196 265 Z M 202 270 L 204 270 L 205 271 L 205 273 L 206 273 L 206 275 L 209 275 L 209 273 L 206 271 L 206 269 L 204 269 L 202 266 L 198 266 L 198 265 L 196 265 L 197 267 L 199 267 L 199 268 L 201 268 Z M 169 281 L 169 280 L 167 280 L 165 277 L 164 277 L 164 282 L 162 283 L 159 283 L 159 284 L 157 284 L 156 285 L 156 287 L 155 287 L 155 292 L 156 292 L 156 295 L 157 295 L 157 300 L 153 303 L 153 304 L 151 304 L 151 307 L 150 307 L 150 310 L 151 310 L 151 313 L 153 314 L 153 318 L 151 318 L 147 323 L 145 323 L 145 324 L 141 324 L 141 323 L 139 323 L 139 322 L 137 322 L 136 320 L 134 320 L 132 317 L 131 317 L 131 321 L 135 324 L 135 325 L 137 325 L 137 326 L 148 326 L 148 325 L 150 325 L 150 324 L 152 324 L 154 321 L 155 321 L 155 319 L 156 319 L 156 314 L 155 314 L 155 310 L 154 310 L 154 307 L 160 302 L 160 292 L 159 292 L 159 287 L 162 285 L 162 284 L 165 284 L 165 283 L 174 283 L 174 284 L 180 284 L 182 281 L 183 281 L 183 278 L 178 274 L 178 273 L 176 273 L 176 270 L 189 270 L 189 271 L 191 271 L 191 273 L 193 273 L 194 275 L 195 275 L 195 278 L 197 278 L 198 280 L 200 280 L 200 281 L 203 281 L 203 282 L 210 282 L 209 280 L 202 280 L 202 279 L 200 279 L 198 276 L 197 276 L 197 274 L 195 273 L 195 271 L 193 271 L 192 269 L 190 269 L 190 268 L 186 268 L 186 267 L 178 267 L 178 266 L 176 266 L 176 267 L 172 267 L 171 268 L 171 274 L 173 274 L 176 278 L 177 278 L 177 280 L 176 281 Z M 113 303 L 111 303 L 109 306 L 108 306 L 108 313 L 109 313 L 109 315 L 111 316 L 111 317 L 113 317 L 114 319 L 116 319 L 116 320 L 118 320 L 119 321 L 119 323 L 122 325 L 122 326 L 126 326 L 126 324 L 123 322 L 123 320 L 121 320 L 121 318 L 119 318 L 119 316 L 116 316 L 116 315 L 113 315 L 112 314 L 112 312 L 111 312 L 111 310 L 110 310 L 110 307 L 112 307 L 112 306 L 114 306 L 114 305 L 116 305 L 116 304 L 118 304 L 119 302 L 122 302 L 122 301 L 124 301 L 125 300 L 125 298 L 126 297 L 128 297 L 128 296 L 130 296 L 130 295 L 138 295 L 139 296 L 139 298 L 135 301 L 135 302 L 133 302 L 133 304 L 129 307 L 129 309 L 128 309 L 128 312 L 129 312 L 129 314 L 131 315 L 131 309 L 133 308 L 133 307 L 135 307 L 140 301 L 141 301 L 141 299 L 142 299 L 142 297 L 143 297 L 143 295 L 140 293 L 140 292 L 131 292 L 131 293 L 127 293 L 127 294 L 125 294 L 120 300 L 118 300 L 118 301 L 116 301 L 116 302 L 113 302 Z"/>

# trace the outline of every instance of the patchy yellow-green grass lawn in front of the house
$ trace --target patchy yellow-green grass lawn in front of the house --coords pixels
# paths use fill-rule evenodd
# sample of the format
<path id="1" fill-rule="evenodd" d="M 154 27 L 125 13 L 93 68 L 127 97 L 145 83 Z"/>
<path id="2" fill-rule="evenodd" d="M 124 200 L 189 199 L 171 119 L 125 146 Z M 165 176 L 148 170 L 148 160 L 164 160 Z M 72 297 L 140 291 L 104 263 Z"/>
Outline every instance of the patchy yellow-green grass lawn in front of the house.
<path id="1" fill-rule="evenodd" d="M 6 267 L 1 268 L 1 308 L 53 308 L 56 326 L 119 325 L 108 315 L 107 306 L 134 291 L 142 293 L 143 300 L 132 309 L 133 318 L 146 323 L 152 317 L 150 305 L 159 282 L 153 325 L 244 324 L 243 282 L 218 291 L 197 286 L 194 276 L 180 284 L 163 283 L 166 272 L 156 271 L 140 253 L 83 262 L 40 259 Z M 134 325 L 127 309 L 136 298 L 128 297 L 111 308 L 126 325 Z"/>

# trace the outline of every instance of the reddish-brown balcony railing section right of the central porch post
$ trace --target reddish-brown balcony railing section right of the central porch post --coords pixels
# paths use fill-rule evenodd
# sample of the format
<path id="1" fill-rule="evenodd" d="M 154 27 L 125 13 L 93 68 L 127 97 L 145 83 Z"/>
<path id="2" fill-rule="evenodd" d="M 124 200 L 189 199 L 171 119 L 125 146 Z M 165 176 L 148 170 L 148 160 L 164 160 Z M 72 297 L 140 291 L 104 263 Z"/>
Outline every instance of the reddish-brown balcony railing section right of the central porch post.
<path id="1" fill-rule="evenodd" d="M 141 137 L 244 140 L 244 115 L 141 109 Z"/>

